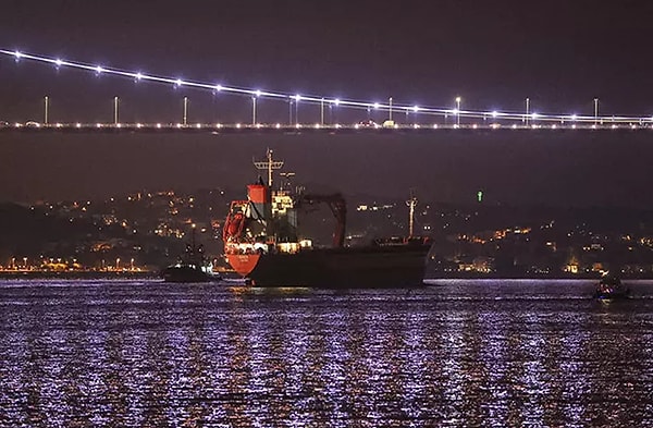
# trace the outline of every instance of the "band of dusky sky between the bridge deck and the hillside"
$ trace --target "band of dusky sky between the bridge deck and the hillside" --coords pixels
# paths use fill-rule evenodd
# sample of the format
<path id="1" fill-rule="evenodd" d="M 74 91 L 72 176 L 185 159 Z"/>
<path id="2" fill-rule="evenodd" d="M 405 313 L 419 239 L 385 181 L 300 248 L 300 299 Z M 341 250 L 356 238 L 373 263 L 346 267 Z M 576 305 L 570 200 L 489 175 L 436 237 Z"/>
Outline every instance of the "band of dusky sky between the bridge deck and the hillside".
<path id="1" fill-rule="evenodd" d="M 516 134 L 515 134 L 516 133 Z M 311 191 L 422 201 L 653 207 L 651 136 L 572 131 L 419 135 L 38 135 L 0 144 L 0 200 L 81 198 L 256 181 L 271 147 Z M 8 138 L 9 139 L 9 138 Z"/>

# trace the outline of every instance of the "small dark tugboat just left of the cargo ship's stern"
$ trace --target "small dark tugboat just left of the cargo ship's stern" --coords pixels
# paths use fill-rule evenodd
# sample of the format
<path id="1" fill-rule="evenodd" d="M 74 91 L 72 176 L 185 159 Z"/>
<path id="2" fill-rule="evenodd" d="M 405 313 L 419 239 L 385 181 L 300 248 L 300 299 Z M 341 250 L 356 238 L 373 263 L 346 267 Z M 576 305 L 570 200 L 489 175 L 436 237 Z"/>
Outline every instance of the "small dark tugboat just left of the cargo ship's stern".
<path id="1" fill-rule="evenodd" d="M 213 272 L 212 266 L 208 262 L 204 246 L 196 245 L 195 224 L 193 224 L 193 235 L 189 244 L 186 245 L 186 253 L 181 259 L 162 272 L 165 282 L 211 282 L 219 281 L 220 276 Z"/>

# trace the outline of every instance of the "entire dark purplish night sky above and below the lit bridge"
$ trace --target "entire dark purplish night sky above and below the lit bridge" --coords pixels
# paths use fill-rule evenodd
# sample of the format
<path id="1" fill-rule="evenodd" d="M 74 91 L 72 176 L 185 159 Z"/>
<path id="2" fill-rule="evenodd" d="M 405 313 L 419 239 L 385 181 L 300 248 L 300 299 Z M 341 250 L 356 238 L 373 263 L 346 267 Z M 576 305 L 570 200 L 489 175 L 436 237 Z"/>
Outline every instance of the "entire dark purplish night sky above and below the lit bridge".
<path id="1" fill-rule="evenodd" d="M 201 82 L 476 110 L 652 114 L 648 1 L 2 2 L 0 48 Z M 0 120 L 246 122 L 247 98 L 0 58 Z M 261 100 L 261 121 L 287 121 Z M 319 118 L 313 108 L 303 114 Z M 357 121 L 366 111 L 338 121 Z M 375 120 L 383 118 L 377 117 Z M 505 203 L 653 206 L 653 132 L 433 137 L 0 134 L 0 200 L 94 197 L 147 186 L 237 186 L 271 146 L 307 182 L 352 193 Z"/>

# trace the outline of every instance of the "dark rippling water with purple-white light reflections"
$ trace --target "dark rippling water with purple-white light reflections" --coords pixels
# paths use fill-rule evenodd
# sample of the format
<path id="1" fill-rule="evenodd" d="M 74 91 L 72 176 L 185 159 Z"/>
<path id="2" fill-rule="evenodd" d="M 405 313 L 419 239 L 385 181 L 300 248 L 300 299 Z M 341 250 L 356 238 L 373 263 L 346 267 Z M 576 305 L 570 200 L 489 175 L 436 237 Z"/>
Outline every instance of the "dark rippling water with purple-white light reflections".
<path id="1" fill-rule="evenodd" d="M 653 282 L 0 282 L 1 426 L 653 426 Z"/>

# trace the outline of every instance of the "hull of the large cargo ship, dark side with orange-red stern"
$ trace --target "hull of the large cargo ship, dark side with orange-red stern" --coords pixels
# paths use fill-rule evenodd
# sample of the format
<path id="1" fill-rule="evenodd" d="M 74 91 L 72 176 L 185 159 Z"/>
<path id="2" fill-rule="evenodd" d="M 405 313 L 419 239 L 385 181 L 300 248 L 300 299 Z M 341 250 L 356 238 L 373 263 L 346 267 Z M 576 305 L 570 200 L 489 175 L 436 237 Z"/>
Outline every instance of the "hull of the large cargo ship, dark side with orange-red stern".
<path id="1" fill-rule="evenodd" d="M 406 288 L 423 284 L 429 248 L 370 246 L 226 257 L 255 286 Z"/>

